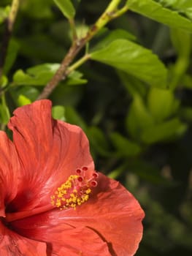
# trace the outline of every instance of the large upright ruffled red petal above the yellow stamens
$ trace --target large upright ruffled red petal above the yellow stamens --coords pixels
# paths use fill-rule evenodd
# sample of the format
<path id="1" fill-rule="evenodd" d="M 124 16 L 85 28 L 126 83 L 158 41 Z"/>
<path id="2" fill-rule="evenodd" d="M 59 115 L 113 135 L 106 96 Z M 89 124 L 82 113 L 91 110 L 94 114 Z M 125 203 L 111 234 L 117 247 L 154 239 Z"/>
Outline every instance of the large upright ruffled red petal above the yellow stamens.
<path id="1" fill-rule="evenodd" d="M 50 195 L 78 167 L 94 168 L 88 140 L 80 127 L 51 118 L 51 102 L 41 100 L 15 110 L 9 121 L 22 163 L 20 211 L 50 203 Z"/>

